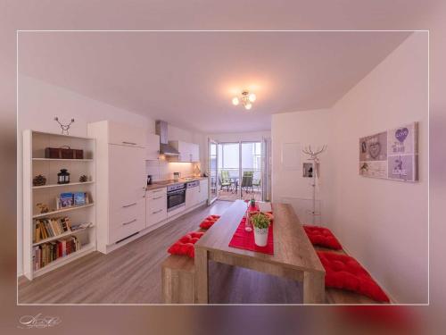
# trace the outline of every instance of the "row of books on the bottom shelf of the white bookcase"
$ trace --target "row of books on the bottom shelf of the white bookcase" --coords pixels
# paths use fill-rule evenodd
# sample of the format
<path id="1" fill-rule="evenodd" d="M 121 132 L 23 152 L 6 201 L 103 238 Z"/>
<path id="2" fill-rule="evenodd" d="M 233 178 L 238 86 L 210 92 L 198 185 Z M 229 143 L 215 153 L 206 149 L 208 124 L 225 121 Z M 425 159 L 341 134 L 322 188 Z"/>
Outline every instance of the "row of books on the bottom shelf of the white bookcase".
<path id="1" fill-rule="evenodd" d="M 70 255 L 80 250 L 80 242 L 76 236 L 56 239 L 33 247 L 33 266 L 34 271 L 41 269 L 56 259 Z"/>

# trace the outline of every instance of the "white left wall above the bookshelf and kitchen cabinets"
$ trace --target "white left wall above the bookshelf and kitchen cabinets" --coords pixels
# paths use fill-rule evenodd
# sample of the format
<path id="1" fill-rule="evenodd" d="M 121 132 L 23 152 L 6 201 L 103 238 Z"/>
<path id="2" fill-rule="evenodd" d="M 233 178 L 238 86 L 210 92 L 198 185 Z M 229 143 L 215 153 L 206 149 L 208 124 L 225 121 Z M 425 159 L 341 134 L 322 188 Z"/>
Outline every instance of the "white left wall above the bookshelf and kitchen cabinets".
<path id="1" fill-rule="evenodd" d="M 70 135 L 87 136 L 87 123 L 101 120 L 120 121 L 143 127 L 155 132 L 155 122 L 149 117 L 130 113 L 121 108 L 107 105 L 87 96 L 81 96 L 66 88 L 61 88 L 41 80 L 21 75 L 19 78 L 19 110 L 17 132 L 17 272 L 22 273 L 22 130 L 32 129 L 59 133 L 59 125 L 54 121 L 58 116 L 62 122 L 75 122 Z M 198 135 L 192 131 L 169 126 L 169 138 L 193 141 Z M 202 151 L 202 147 L 200 148 Z M 161 164 L 166 171 L 178 170 L 178 166 Z M 192 164 L 181 166 L 181 172 L 192 171 Z"/>

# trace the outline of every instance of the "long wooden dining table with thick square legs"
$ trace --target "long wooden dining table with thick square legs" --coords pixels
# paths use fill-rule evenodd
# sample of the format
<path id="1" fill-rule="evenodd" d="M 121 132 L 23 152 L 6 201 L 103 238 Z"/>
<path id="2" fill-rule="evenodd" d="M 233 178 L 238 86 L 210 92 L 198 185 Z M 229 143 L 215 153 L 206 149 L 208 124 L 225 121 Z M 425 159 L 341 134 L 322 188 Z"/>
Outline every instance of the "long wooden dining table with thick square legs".
<path id="1" fill-rule="evenodd" d="M 299 218 L 288 204 L 273 203 L 274 255 L 229 247 L 247 204 L 236 200 L 195 247 L 195 303 L 209 303 L 209 261 L 303 281 L 303 304 L 325 303 L 325 275 Z M 253 232 L 252 232 L 253 234 Z"/>

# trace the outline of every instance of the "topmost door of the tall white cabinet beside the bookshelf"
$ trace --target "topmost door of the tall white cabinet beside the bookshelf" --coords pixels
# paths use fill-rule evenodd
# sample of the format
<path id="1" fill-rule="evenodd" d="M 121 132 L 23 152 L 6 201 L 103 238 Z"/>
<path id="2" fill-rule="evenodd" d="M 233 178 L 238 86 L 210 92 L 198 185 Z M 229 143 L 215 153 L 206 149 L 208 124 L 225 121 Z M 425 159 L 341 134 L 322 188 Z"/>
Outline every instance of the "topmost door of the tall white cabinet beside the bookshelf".
<path id="1" fill-rule="evenodd" d="M 129 147 L 146 146 L 146 130 L 139 127 L 130 126 L 124 123 L 113 121 L 101 121 L 106 123 L 103 127 L 104 134 L 108 138 L 108 143 Z"/>

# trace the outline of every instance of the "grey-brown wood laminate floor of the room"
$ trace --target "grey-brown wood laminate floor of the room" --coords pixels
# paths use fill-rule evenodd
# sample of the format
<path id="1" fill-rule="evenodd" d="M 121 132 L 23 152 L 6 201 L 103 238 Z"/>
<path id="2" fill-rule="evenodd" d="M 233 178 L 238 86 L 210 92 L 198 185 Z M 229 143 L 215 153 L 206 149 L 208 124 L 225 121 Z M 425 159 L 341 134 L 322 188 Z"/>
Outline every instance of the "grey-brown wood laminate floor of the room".
<path id="1" fill-rule="evenodd" d="M 217 201 L 103 255 L 94 252 L 34 281 L 18 281 L 20 304 L 161 304 L 161 263 L 186 232 L 232 202 Z M 226 264 L 210 264 L 214 304 L 301 303 L 301 283 Z"/>

